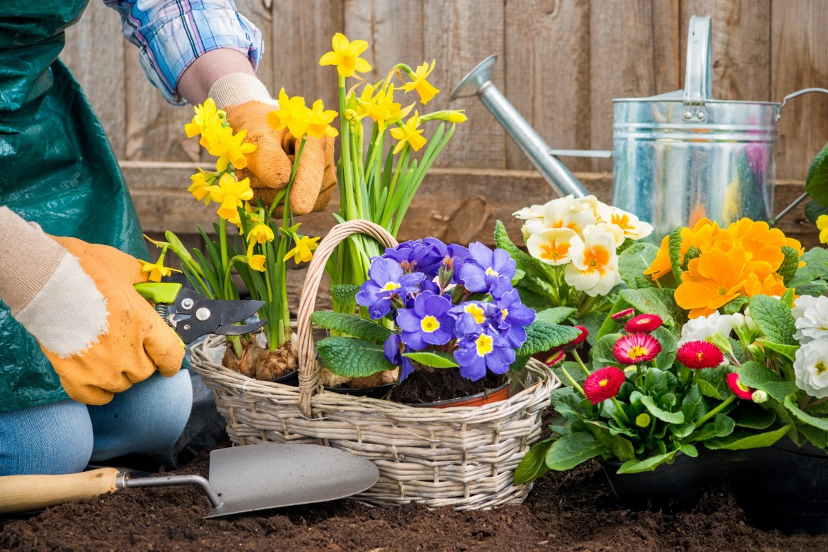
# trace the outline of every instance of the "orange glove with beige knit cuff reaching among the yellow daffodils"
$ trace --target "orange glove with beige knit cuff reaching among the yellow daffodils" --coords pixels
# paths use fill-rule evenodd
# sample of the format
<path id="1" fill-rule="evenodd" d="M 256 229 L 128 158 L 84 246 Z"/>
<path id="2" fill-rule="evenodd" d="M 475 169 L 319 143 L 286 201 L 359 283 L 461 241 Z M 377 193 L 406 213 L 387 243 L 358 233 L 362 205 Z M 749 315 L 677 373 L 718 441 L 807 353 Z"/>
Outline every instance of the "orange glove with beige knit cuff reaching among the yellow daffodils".
<path id="1" fill-rule="evenodd" d="M 210 88 L 209 97 L 227 113 L 233 132 L 248 131 L 244 140 L 254 144 L 256 151 L 247 154 L 248 166 L 237 171 L 238 178 L 250 179 L 253 202 L 262 199 L 263 204 L 271 204 L 277 190 L 282 190 L 291 180 L 300 141 L 290 132 L 274 130 L 267 124 L 267 113 L 276 109 L 277 104 L 253 75 L 224 75 Z M 333 138 L 308 138 L 291 188 L 291 211 L 293 214 L 325 211 L 335 186 Z M 281 216 L 282 207 L 274 213 Z"/>

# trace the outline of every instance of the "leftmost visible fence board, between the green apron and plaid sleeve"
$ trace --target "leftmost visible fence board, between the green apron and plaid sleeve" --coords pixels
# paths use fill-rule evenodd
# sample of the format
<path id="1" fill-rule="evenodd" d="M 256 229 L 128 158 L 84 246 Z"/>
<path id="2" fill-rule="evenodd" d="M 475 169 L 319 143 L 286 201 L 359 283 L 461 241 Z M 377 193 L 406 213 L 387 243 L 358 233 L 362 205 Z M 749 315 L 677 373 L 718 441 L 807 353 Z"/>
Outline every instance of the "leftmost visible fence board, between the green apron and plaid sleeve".
<path id="1" fill-rule="evenodd" d="M 123 159 L 126 141 L 123 71 L 127 48 L 132 49 L 132 45 L 121 34 L 118 12 L 103 2 L 91 2 L 80 21 L 66 30 L 66 46 L 60 53 L 60 59 L 83 87 L 118 159 Z"/>

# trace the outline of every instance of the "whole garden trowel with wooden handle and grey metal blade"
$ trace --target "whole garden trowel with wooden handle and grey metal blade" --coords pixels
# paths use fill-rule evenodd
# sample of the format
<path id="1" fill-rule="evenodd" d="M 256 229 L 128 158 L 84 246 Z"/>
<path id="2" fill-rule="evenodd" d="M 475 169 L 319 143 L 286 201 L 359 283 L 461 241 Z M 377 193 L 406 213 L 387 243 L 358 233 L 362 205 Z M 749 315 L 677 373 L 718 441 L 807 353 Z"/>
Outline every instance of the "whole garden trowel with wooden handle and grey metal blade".
<path id="1" fill-rule="evenodd" d="M 116 468 L 68 475 L 0 477 L 0 514 L 31 511 L 130 487 L 200 486 L 210 517 L 349 497 L 379 478 L 370 460 L 318 444 L 251 444 L 214 450 L 200 475 L 129 478 Z"/>

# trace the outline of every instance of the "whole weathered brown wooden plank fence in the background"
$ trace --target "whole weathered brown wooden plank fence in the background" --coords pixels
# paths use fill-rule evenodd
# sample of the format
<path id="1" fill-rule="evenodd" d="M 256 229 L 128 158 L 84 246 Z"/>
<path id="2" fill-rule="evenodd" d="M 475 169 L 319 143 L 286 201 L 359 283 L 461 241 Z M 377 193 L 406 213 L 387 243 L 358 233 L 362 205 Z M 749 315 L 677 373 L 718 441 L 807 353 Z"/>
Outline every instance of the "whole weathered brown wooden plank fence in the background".
<path id="1" fill-rule="evenodd" d="M 407 215 L 401 238 L 437 235 L 491 242 L 496 218 L 553 197 L 517 146 L 476 98 L 449 103 L 457 81 L 497 54 L 493 81 L 556 148 L 611 149 L 612 98 L 646 97 L 681 88 L 691 14 L 713 18 L 713 96 L 779 102 L 807 87 L 828 88 L 825 0 L 237 0 L 264 36 L 258 74 L 273 94 L 335 104 L 336 71 L 320 67 L 330 37 L 344 31 L 371 45 L 370 79 L 397 61 L 436 60 L 442 90 L 429 108 L 464 108 Z M 118 14 L 90 2 L 67 32 L 70 65 L 103 122 L 150 233 L 187 233 L 211 212 L 186 193 L 202 153 L 187 140 L 190 108 L 166 104 L 147 82 L 137 49 L 121 36 Z M 102 48 L 100 45 L 107 45 Z M 828 142 L 828 95 L 797 98 L 782 112 L 777 147 L 777 211 L 802 191 L 816 152 Z M 609 199 L 611 161 L 566 160 L 590 190 Z M 336 199 L 335 199 L 336 201 Z M 334 201 L 334 203 L 335 203 Z M 335 206 L 332 205 L 332 209 Z M 324 234 L 330 214 L 306 218 Z M 816 243 L 797 209 L 781 224 Z"/>

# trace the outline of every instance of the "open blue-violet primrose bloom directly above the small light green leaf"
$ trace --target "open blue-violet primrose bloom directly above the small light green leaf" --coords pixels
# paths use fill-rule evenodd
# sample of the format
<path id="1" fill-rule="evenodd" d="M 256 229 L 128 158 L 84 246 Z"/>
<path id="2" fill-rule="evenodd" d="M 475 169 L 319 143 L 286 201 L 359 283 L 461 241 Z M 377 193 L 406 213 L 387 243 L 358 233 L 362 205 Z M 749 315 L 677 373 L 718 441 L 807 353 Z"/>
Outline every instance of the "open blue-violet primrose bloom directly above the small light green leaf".
<path id="1" fill-rule="evenodd" d="M 443 345 L 455 337 L 455 319 L 449 310 L 451 301 L 430 291 L 416 296 L 413 309 L 397 310 L 397 324 L 402 329 L 402 343 L 415 351 L 428 345 Z"/>

